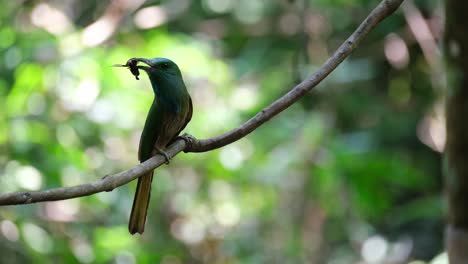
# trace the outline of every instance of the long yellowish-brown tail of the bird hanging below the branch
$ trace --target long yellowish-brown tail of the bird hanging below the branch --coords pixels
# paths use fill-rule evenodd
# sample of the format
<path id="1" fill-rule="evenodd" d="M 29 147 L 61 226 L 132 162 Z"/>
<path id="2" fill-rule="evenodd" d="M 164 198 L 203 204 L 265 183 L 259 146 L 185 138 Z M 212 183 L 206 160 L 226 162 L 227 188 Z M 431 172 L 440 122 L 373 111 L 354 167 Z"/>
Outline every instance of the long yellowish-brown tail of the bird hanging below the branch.
<path id="1" fill-rule="evenodd" d="M 153 180 L 153 171 L 138 178 L 135 198 L 133 198 L 132 212 L 128 222 L 128 231 L 130 234 L 145 231 L 146 213 L 151 197 L 151 181 Z"/>

